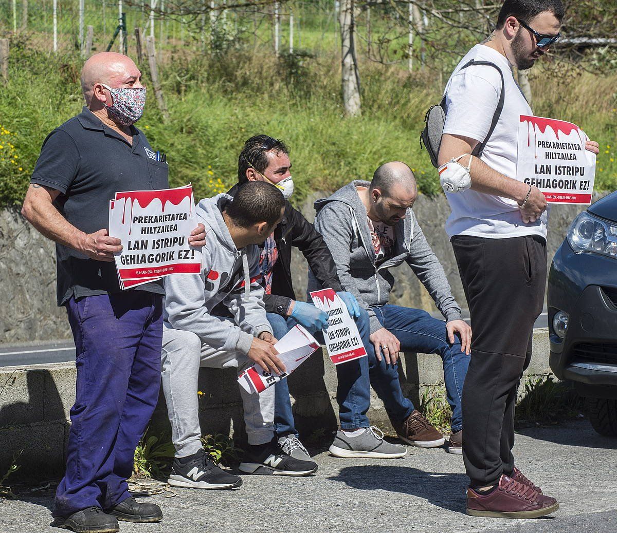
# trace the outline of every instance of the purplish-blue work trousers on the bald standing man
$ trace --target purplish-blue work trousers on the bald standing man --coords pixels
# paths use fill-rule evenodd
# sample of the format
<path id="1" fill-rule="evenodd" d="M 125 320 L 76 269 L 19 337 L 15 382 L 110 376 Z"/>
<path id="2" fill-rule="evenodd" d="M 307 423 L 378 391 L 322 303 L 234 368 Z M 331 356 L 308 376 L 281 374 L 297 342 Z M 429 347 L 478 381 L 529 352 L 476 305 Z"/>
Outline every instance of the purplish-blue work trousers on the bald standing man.
<path id="1" fill-rule="evenodd" d="M 130 497 L 135 447 L 159 399 L 162 301 L 140 290 L 68 301 L 77 384 L 54 516 Z"/>

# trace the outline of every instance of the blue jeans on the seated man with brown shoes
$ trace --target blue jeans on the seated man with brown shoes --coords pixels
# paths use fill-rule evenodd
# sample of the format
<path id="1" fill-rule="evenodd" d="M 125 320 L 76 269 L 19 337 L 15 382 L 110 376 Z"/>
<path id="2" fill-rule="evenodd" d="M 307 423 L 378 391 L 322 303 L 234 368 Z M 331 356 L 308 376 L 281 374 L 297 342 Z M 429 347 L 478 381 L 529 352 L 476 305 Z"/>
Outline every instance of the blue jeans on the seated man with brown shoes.
<path id="1" fill-rule="evenodd" d="M 447 339 L 445 322 L 434 319 L 428 312 L 421 309 L 391 304 L 372 309 L 381 325 L 399 340 L 400 351 L 441 356 L 444 365 L 445 394 L 450 409 L 452 409 L 450 426 L 452 431 L 462 429 L 463 383 L 470 356 L 461 351 L 458 337 L 455 335 L 454 343 L 450 344 Z M 397 365 L 386 365 L 385 360 L 382 359 L 381 362 L 370 361 L 369 367 L 371 385 L 384 402 L 391 420 L 405 420 L 411 413 L 409 406 L 413 410 L 413 405 L 400 392 Z"/>

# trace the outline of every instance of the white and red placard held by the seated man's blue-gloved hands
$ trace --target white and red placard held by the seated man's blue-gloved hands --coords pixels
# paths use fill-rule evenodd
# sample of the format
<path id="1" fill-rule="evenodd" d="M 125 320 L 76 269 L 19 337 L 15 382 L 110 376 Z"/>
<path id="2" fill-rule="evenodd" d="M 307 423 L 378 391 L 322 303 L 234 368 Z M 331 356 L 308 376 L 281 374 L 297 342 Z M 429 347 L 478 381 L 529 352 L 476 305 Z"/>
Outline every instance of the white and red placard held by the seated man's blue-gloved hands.
<path id="1" fill-rule="evenodd" d="M 323 330 L 323 339 L 330 360 L 339 365 L 366 357 L 358 327 L 344 301 L 332 289 L 313 291 L 310 297 L 315 307 L 328 315 L 328 329 Z"/>

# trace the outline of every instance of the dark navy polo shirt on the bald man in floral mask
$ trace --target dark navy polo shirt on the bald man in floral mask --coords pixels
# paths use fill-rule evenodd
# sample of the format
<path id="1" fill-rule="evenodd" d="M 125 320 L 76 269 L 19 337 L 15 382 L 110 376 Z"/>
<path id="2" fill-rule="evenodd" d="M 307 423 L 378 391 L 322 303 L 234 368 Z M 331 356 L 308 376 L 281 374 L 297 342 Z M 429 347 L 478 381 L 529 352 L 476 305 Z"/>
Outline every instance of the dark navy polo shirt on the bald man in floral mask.
<path id="1" fill-rule="evenodd" d="M 131 126 L 133 145 L 87 107 L 43 142 L 31 183 L 60 192 L 54 205 L 86 234 L 109 229 L 109 200 L 125 190 L 167 189 L 167 163 L 155 160 L 146 136 Z M 114 262 L 90 259 L 56 244 L 58 305 L 71 296 L 120 292 Z M 165 294 L 161 281 L 135 289 Z"/>

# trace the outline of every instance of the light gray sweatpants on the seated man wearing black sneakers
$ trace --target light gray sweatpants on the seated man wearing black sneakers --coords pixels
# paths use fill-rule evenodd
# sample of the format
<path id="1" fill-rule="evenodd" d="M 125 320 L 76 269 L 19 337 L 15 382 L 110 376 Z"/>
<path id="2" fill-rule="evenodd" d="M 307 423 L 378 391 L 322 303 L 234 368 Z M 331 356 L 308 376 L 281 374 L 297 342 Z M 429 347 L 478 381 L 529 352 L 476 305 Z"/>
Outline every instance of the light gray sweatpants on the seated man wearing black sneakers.
<path id="1" fill-rule="evenodd" d="M 163 328 L 162 383 L 176 457 L 196 454 L 202 448 L 197 399 L 199 367 L 244 368 L 249 363 L 241 352 L 212 348 L 203 344 L 195 333 Z M 274 437 L 274 387 L 261 394 L 249 394 L 238 387 L 249 444 L 270 442 Z"/>

